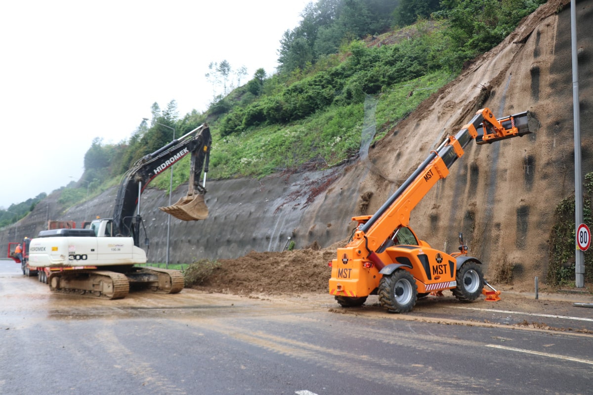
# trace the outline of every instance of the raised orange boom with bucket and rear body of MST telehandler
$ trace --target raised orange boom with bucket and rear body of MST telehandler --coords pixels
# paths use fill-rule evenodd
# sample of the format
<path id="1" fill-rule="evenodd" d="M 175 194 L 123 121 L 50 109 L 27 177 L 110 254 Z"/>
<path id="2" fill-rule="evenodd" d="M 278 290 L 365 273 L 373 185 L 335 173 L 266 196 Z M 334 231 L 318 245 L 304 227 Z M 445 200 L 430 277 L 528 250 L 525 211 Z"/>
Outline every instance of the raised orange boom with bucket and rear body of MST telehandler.
<path id="1" fill-rule="evenodd" d="M 447 177 L 449 168 L 464 155 L 471 140 L 478 144 L 492 143 L 531 133 L 530 114 L 526 111 L 497 119 L 488 108 L 477 111 L 471 121 L 455 136 L 449 136 L 406 179 L 393 195 L 372 216 L 359 216 L 352 240 L 337 251 L 332 261 L 330 294 L 364 297 L 374 290 L 381 278 L 378 272 L 387 264 L 380 247 L 393 236 L 394 230 L 407 227 L 410 211 L 416 207 L 439 179 Z M 405 265 L 400 262 L 400 265 Z M 369 268 L 373 268 L 369 271 Z"/>

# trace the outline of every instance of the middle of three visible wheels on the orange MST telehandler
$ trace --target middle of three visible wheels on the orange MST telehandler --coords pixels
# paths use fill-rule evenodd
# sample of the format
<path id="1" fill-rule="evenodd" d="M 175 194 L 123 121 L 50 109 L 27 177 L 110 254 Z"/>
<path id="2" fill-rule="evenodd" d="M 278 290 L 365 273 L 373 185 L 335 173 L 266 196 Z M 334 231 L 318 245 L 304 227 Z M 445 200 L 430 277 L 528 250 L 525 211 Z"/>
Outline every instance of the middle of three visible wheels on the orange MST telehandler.
<path id="1" fill-rule="evenodd" d="M 383 275 L 379 282 L 379 302 L 391 313 L 407 313 L 418 298 L 416 280 L 404 269 Z"/>

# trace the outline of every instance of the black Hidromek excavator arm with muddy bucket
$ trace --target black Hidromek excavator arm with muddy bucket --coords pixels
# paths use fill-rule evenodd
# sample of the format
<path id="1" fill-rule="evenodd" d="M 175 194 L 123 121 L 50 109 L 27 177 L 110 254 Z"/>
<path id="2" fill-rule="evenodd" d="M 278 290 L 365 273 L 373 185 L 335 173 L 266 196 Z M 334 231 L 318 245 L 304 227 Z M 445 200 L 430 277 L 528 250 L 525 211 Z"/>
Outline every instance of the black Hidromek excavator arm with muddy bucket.
<path id="1" fill-rule="evenodd" d="M 135 245 L 138 246 L 141 220 L 139 215 L 134 215 L 134 211 L 139 204 L 139 196 L 152 179 L 188 154 L 192 155 L 189 192 L 176 204 L 160 208 L 184 221 L 206 219 L 208 207 L 204 203 L 203 195 L 206 193 L 205 182 L 211 143 L 210 129 L 208 125 L 202 124 L 134 163 L 132 168 L 123 175 L 117 191 L 113 213 L 114 234 L 132 236 Z M 202 171 L 204 180 L 200 185 L 199 179 Z"/>

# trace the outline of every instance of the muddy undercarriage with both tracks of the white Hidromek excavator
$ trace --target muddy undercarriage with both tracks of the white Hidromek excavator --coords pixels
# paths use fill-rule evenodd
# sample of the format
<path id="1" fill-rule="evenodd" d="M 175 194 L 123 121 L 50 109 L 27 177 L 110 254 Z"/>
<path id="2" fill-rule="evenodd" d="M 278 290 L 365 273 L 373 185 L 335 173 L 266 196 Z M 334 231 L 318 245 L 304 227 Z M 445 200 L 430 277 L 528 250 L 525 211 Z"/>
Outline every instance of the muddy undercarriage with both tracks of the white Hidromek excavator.
<path id="1" fill-rule="evenodd" d="M 121 299 L 130 290 L 149 290 L 176 294 L 183 290 L 183 275 L 178 270 L 131 267 L 125 271 L 68 270 L 52 272 L 47 279 L 55 293 L 86 297 Z"/>

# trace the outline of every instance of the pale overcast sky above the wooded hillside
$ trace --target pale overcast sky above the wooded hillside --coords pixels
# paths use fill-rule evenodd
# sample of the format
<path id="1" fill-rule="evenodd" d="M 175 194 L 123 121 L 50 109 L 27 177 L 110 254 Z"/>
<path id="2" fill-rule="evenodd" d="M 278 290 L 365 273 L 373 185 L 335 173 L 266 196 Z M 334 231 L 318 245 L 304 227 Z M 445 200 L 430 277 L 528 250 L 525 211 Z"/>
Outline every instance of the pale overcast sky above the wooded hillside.
<path id="1" fill-rule="evenodd" d="M 2 1 L 0 208 L 78 181 L 93 139 L 127 139 L 154 102 L 205 111 L 211 62 L 274 72 L 308 2 Z"/>

